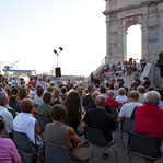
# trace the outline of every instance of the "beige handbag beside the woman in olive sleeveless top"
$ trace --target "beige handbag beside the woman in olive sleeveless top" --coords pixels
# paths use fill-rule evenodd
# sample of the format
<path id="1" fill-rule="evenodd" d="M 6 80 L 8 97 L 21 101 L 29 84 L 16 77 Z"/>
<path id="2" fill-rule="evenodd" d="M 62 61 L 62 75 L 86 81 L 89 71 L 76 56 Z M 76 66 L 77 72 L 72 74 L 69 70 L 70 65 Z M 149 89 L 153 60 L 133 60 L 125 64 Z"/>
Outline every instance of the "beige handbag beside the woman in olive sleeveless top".
<path id="1" fill-rule="evenodd" d="M 86 161 L 91 155 L 91 142 L 85 141 L 75 149 L 73 149 L 72 154 L 80 161 Z"/>

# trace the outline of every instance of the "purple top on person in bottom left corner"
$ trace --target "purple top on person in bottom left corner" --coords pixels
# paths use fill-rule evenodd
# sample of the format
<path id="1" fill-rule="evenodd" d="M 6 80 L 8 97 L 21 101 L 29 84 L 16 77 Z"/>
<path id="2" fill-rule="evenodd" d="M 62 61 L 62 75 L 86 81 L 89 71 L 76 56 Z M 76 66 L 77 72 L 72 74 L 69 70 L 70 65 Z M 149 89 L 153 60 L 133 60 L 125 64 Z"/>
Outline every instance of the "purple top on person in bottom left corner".
<path id="1" fill-rule="evenodd" d="M 19 163 L 20 160 L 12 140 L 0 138 L 0 163 Z"/>

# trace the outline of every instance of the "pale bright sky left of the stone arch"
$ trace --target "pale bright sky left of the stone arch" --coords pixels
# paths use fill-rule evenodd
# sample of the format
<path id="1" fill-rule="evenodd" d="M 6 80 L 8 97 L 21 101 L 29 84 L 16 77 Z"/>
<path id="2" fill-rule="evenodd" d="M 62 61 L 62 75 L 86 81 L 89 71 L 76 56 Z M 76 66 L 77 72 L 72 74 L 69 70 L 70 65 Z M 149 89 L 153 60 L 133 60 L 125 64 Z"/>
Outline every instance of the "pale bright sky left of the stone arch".
<path id="1" fill-rule="evenodd" d="M 106 55 L 104 0 L 0 0 L 2 67 L 89 75 Z"/>

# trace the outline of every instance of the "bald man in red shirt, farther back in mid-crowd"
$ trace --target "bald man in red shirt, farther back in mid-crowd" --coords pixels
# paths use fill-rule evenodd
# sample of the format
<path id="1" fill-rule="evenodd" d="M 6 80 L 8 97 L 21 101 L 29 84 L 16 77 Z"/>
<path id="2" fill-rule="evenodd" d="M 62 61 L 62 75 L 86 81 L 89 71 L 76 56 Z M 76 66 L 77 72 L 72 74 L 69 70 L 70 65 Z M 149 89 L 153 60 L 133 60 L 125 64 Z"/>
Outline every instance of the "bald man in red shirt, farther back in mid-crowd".
<path id="1" fill-rule="evenodd" d="M 113 96 L 114 96 L 114 92 L 112 90 L 108 90 L 106 103 L 109 104 L 110 108 L 114 108 L 116 112 L 117 109 L 120 110 L 119 103 L 113 100 Z"/>

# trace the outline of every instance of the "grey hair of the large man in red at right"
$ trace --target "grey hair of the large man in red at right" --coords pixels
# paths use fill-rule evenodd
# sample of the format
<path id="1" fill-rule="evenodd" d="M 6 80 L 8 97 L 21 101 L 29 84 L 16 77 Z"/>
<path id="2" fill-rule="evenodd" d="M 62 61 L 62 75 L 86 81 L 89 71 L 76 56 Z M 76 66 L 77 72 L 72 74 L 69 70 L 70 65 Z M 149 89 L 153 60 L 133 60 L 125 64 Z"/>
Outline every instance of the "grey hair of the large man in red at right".
<path id="1" fill-rule="evenodd" d="M 145 94 L 144 100 L 147 103 L 158 105 L 160 103 L 161 96 L 156 91 L 150 91 Z"/>

